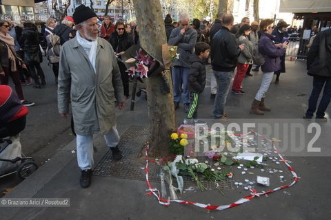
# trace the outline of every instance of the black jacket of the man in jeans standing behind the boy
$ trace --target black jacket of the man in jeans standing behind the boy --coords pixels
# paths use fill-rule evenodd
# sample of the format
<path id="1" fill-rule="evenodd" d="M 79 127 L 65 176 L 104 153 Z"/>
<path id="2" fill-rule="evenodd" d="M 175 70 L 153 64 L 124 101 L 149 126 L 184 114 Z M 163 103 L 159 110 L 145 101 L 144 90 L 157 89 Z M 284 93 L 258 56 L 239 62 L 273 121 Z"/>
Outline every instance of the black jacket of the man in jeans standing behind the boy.
<path id="1" fill-rule="evenodd" d="M 211 43 L 212 70 L 232 72 L 240 54 L 237 39 L 228 28 L 222 27 Z"/>

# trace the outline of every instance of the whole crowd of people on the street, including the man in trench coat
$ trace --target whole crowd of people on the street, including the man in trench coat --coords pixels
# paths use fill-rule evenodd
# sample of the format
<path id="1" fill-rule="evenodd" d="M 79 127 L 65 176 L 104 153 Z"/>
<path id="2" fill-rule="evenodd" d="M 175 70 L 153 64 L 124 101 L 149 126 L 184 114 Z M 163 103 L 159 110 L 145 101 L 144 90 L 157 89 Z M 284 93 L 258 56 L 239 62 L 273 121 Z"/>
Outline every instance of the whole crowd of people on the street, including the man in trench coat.
<path id="1" fill-rule="evenodd" d="M 288 45 L 288 24 L 281 20 L 263 19 L 250 23 L 244 17 L 234 25 L 232 14 L 220 12 L 211 25 L 208 21 L 193 19 L 181 14 L 179 22 L 173 22 L 170 14 L 164 19 L 168 45 L 177 46 L 179 58 L 172 62 L 174 109 L 180 102 L 187 113 L 184 123 L 197 122 L 200 94 L 205 89 L 205 65 L 212 67 L 210 98 L 214 98 L 212 117 L 220 122 L 228 121 L 225 103 L 230 92 L 243 95 L 242 82 L 251 72 L 263 72 L 261 85 L 252 100 L 250 113 L 263 115 L 271 111 L 265 106 L 273 75 L 275 83 L 285 72 L 285 50 Z M 297 30 L 289 29 L 291 33 Z M 129 75 L 121 56 L 132 45 L 140 45 L 139 28 L 132 21 L 112 23 L 105 17 L 102 25 L 93 10 L 79 5 L 73 17 L 65 17 L 56 25 L 48 19 L 43 31 L 47 48 L 40 46 L 39 32 L 34 23 L 24 23 L 23 28 L 10 21 L 0 22 L 0 79 L 8 84 L 9 76 L 23 105 L 33 105 L 23 96 L 22 85 L 39 89 L 46 85 L 40 63 L 43 53 L 52 65 L 55 82 L 58 84 L 58 107 L 63 118 L 71 112 L 74 131 L 77 134 L 77 160 L 81 168 L 82 188 L 90 186 L 93 166 L 93 134 L 104 135 L 113 159 L 121 159 L 119 133 L 114 115 L 115 102 L 119 109 L 130 96 Z M 325 85 L 317 118 L 324 118 L 330 102 L 330 48 L 325 48 L 323 65 L 318 66 L 319 43 L 330 45 L 330 34 L 317 35 L 308 54 L 309 74 L 314 76 L 314 89 L 309 100 L 309 109 L 304 118 L 312 118 L 317 99 Z M 329 44 L 328 44 L 329 43 Z M 312 57 L 314 56 L 314 57 Z M 253 68 L 254 67 L 254 68 Z M 321 68 L 326 68 L 321 70 Z M 237 72 L 234 74 L 234 70 Z M 234 77 L 233 77 L 234 74 Z M 233 78 L 233 83 L 232 83 Z M 232 86 L 231 86 L 232 83 Z M 230 89 L 231 87 L 231 89 Z"/>

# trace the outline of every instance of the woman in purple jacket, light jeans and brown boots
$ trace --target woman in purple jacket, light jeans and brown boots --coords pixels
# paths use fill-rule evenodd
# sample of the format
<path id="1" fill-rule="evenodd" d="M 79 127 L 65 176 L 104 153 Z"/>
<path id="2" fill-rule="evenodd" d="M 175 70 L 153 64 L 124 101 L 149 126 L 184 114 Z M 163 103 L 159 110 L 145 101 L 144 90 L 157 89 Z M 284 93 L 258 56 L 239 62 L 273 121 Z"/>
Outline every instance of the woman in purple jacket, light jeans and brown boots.
<path id="1" fill-rule="evenodd" d="M 265 107 L 264 105 L 264 97 L 265 93 L 269 89 L 269 85 L 272 81 L 272 76 L 274 76 L 274 72 L 281 68 L 281 59 L 280 57 L 285 54 L 285 49 L 287 43 L 274 43 L 274 36 L 272 36 L 272 30 L 274 20 L 272 19 L 264 19 L 260 23 L 261 29 L 261 38 L 259 41 L 259 52 L 264 56 L 265 61 L 261 66 L 263 75 L 261 86 L 259 91 L 257 91 L 257 95 L 255 96 L 252 107 L 250 109 L 250 113 L 263 115 L 264 111 L 271 111 L 270 108 Z"/>

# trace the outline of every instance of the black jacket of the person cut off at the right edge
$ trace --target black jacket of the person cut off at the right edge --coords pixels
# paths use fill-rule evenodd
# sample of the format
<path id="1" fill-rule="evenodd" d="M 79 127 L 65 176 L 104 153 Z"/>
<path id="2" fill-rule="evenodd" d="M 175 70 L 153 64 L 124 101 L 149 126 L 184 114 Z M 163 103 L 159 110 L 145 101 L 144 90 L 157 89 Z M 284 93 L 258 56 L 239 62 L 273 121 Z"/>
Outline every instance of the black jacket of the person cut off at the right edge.
<path id="1" fill-rule="evenodd" d="M 307 69 L 310 76 L 331 77 L 331 29 L 315 37 L 308 52 Z"/>

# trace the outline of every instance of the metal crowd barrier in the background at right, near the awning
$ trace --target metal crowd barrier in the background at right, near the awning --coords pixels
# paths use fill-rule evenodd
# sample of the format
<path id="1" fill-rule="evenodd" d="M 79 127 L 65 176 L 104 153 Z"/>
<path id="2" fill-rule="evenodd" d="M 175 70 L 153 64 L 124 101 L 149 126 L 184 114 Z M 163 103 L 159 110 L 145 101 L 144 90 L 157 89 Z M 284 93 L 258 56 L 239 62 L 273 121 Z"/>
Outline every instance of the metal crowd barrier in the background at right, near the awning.
<path id="1" fill-rule="evenodd" d="M 289 37 L 288 38 L 288 47 L 286 49 L 286 55 L 292 58 L 305 59 L 308 55 L 307 47 L 310 39 L 302 39 L 300 37 Z"/>

